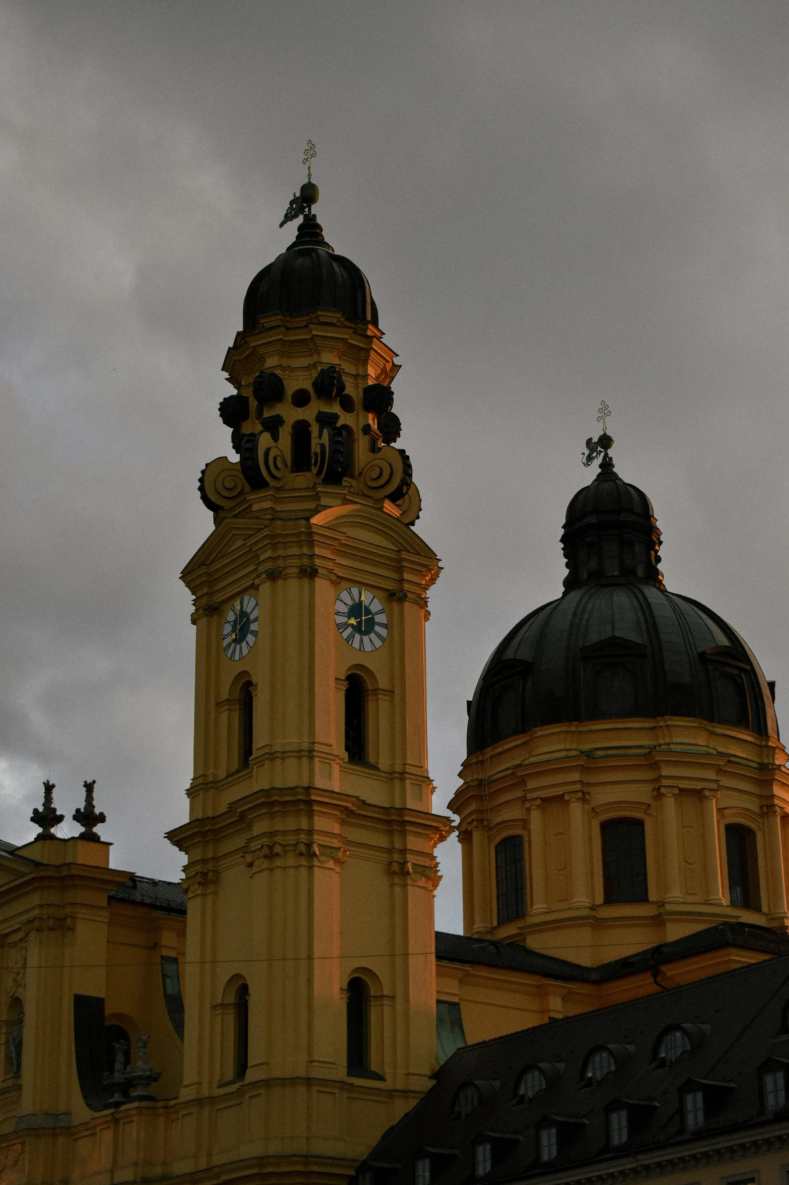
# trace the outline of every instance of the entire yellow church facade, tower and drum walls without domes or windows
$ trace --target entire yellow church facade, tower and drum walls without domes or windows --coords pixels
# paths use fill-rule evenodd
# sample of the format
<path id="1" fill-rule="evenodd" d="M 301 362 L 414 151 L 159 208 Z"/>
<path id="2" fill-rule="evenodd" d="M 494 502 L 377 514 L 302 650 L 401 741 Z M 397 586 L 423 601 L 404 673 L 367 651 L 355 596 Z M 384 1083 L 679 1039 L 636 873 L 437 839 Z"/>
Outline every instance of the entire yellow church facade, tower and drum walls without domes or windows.
<path id="1" fill-rule="evenodd" d="M 436 961 L 434 852 L 450 825 L 431 809 L 424 632 L 440 568 L 412 527 L 418 492 L 400 492 L 402 454 L 363 406 L 365 386 L 391 382 L 394 357 L 374 325 L 332 312 L 264 316 L 227 353 L 267 485 L 251 488 L 226 457 L 207 466 L 219 510 L 182 574 L 197 633 L 194 776 L 188 820 L 169 839 L 186 858 L 187 917 L 108 897 L 129 877 L 109 867 L 108 844 L 0 852 L 0 1185 L 339 1185 L 429 1088 L 436 998 L 461 1004 L 472 1042 L 764 957 L 731 948 L 676 961 L 660 985 L 643 972 L 572 984 Z M 332 366 L 345 379 L 339 401 L 313 391 Z M 256 409 L 261 371 L 282 379 L 284 397 Z M 338 425 L 351 465 L 326 483 L 320 448 Z M 294 463 L 304 430 L 312 469 Z M 336 597 L 351 587 L 386 611 L 376 651 L 336 628 Z M 244 596 L 259 607 L 259 632 L 231 660 L 224 624 Z M 352 677 L 364 688 L 365 761 L 346 752 Z M 740 818 L 758 832 L 765 871 L 763 911 L 745 920 L 784 928 L 784 761 L 777 742 L 684 719 L 551 726 L 477 754 L 453 800 L 466 931 L 596 965 L 743 918 L 727 904 L 721 857 L 721 827 Z M 647 824 L 643 905 L 602 904 L 596 828 L 614 813 Z M 528 844 L 528 912 L 499 927 L 493 852 L 515 832 Z M 179 962 L 182 1043 L 162 956 Z M 368 1001 L 365 1074 L 347 1064 L 352 980 Z M 103 1001 L 104 1023 L 133 1042 L 149 1035 L 155 1102 L 90 1109 L 75 994 Z M 18 1074 L 11 1032 L 23 1012 Z"/>

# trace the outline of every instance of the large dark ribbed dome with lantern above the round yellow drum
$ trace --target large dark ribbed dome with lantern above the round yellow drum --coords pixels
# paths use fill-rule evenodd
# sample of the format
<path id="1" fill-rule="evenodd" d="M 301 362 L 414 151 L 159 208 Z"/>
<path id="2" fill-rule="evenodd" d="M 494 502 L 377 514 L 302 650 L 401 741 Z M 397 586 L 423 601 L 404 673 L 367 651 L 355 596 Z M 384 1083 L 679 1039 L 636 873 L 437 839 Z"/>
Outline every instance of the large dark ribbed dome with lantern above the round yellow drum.
<path id="1" fill-rule="evenodd" d="M 530 613 L 488 659 L 468 752 L 541 724 L 685 716 L 778 736 L 772 696 L 739 634 L 657 569 L 649 499 L 614 473 L 567 507 L 565 591 Z"/>

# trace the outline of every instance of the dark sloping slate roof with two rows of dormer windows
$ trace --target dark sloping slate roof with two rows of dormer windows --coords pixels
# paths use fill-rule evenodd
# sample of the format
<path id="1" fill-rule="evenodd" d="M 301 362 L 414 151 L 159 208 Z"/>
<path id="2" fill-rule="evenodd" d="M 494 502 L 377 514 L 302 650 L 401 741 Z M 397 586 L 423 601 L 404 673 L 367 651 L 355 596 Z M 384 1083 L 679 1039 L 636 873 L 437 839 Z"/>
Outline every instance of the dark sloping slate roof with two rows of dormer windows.
<path id="1" fill-rule="evenodd" d="M 360 1171 L 390 1166 L 372 1168 L 376 1185 L 412 1185 L 415 1158 L 423 1149 L 434 1149 L 438 1155 L 431 1162 L 431 1185 L 460 1185 L 474 1179 L 474 1144 L 483 1133 L 515 1138 L 494 1145 L 505 1153 L 486 1181 L 566 1173 L 582 1165 L 602 1168 L 607 1162 L 615 1170 L 616 1160 L 623 1157 L 639 1152 L 659 1155 L 661 1147 L 678 1142 L 685 1147 L 711 1132 L 785 1123 L 785 1107 L 775 1117 L 763 1112 L 759 1068 L 770 1057 L 789 1059 L 788 1001 L 789 956 L 784 955 L 468 1045 L 441 1066 L 436 1084 L 384 1134 Z M 672 1025 L 708 1026 L 708 1032 L 705 1036 L 703 1027 L 694 1030 L 701 1035 L 699 1044 L 673 1065 L 657 1068 L 657 1042 Z M 584 1065 L 601 1045 L 618 1048 L 620 1064 L 588 1087 L 583 1083 Z M 547 1089 L 519 1103 L 518 1081 L 535 1063 L 563 1069 Z M 710 1095 L 707 1123 L 693 1134 L 684 1130 L 681 1110 L 681 1088 L 692 1081 Z M 487 1085 L 489 1096 L 466 1119 L 454 1119 L 455 1097 L 470 1082 Z M 641 1129 L 621 1148 L 611 1149 L 607 1108 L 617 1100 L 657 1107 L 642 1107 Z M 538 1128 L 540 1121 L 551 1122 L 549 1116 L 580 1122 L 564 1128 L 573 1138 L 560 1146 L 556 1159 L 540 1165 Z"/>

